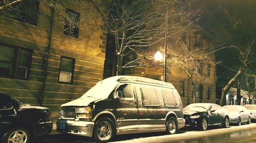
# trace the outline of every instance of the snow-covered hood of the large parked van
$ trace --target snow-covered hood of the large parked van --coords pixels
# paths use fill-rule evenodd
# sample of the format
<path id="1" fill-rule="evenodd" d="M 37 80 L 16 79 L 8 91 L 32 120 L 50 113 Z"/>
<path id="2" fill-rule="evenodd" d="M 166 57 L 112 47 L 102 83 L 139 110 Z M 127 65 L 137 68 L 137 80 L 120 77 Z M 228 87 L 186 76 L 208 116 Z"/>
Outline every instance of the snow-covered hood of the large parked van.
<path id="1" fill-rule="evenodd" d="M 76 100 L 70 101 L 68 103 L 62 104 L 60 107 L 63 106 L 88 106 L 91 102 L 99 100 L 99 98 L 94 97 L 83 97 L 78 98 Z"/>

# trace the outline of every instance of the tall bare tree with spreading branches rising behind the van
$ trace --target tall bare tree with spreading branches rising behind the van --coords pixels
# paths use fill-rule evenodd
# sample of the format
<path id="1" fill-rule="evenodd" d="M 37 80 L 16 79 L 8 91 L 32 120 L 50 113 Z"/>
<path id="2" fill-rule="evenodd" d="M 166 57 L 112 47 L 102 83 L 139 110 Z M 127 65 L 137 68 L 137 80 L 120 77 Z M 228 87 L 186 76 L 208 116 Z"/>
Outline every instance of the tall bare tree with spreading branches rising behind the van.
<path id="1" fill-rule="evenodd" d="M 112 0 L 104 1 L 103 5 L 92 2 L 109 12 L 108 15 L 102 12 L 102 16 L 115 39 L 117 75 L 122 74 L 123 68 L 146 65 L 145 61 L 151 58 L 141 51 L 183 31 L 191 23 L 188 17 L 193 15 L 186 1 Z M 123 58 L 129 54 L 135 54 L 136 58 L 123 64 Z"/>

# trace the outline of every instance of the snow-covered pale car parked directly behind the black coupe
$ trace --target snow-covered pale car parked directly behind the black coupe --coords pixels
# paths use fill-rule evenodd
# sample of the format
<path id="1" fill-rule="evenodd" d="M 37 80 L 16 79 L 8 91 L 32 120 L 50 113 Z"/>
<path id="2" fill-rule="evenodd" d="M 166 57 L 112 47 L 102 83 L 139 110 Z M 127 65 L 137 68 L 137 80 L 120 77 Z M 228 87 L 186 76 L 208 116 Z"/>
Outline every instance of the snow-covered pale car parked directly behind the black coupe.
<path id="1" fill-rule="evenodd" d="M 251 124 L 251 112 L 241 105 L 225 105 L 224 109 L 229 111 L 230 123 L 236 123 L 241 125 L 241 123 L 246 122 Z"/>

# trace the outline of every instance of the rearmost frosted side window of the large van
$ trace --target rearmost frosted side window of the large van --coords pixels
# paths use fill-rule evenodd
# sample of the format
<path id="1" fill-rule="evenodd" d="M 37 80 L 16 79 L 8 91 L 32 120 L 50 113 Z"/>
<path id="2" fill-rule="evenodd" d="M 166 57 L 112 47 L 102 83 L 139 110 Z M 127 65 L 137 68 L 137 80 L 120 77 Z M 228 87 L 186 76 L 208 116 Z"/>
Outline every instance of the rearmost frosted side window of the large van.
<path id="1" fill-rule="evenodd" d="M 164 106 L 177 106 L 176 98 L 172 91 L 161 90 Z"/>

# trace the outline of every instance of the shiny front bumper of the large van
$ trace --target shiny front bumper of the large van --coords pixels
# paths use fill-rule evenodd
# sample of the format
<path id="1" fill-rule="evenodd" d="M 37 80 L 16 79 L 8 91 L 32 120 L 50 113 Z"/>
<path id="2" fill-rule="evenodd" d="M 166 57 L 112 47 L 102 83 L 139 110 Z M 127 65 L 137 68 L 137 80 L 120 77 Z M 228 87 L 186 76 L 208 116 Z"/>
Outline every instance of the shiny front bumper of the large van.
<path id="1" fill-rule="evenodd" d="M 81 136 L 93 136 L 94 122 L 59 120 L 56 122 L 57 132 Z"/>

